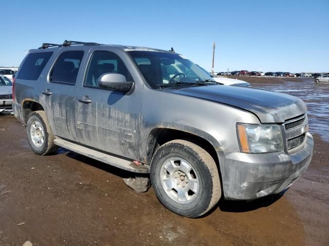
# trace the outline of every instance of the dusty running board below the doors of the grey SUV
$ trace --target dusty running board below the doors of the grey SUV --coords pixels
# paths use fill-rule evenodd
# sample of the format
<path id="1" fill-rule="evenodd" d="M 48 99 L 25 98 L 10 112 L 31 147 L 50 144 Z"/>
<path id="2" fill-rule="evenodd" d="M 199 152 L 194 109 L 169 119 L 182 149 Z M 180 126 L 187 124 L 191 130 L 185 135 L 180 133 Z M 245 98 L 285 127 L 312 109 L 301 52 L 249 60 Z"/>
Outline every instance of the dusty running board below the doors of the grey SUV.
<path id="1" fill-rule="evenodd" d="M 108 165 L 121 168 L 126 171 L 134 172 L 134 173 L 149 173 L 148 167 L 145 167 L 143 164 L 137 166 L 133 163 L 133 161 L 121 159 L 119 157 L 115 157 L 113 155 L 108 155 L 97 150 L 89 149 L 87 147 L 83 147 L 81 145 L 74 144 L 73 142 L 66 141 L 61 138 L 56 138 L 53 140 L 54 144 L 65 149 L 71 150 L 81 155 L 85 155 L 87 157 L 93 158 L 95 160 L 99 160 Z"/>

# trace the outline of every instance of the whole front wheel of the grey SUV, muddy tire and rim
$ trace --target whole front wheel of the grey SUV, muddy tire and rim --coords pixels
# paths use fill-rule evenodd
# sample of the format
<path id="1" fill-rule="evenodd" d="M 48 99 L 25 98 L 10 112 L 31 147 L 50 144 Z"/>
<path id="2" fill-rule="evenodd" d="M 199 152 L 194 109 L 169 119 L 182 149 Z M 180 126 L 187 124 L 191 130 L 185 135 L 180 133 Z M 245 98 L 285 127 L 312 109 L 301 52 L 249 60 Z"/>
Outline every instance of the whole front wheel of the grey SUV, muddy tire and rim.
<path id="1" fill-rule="evenodd" d="M 159 147 L 151 161 L 150 177 L 163 206 L 182 216 L 202 216 L 221 198 L 215 161 L 207 151 L 187 140 L 172 140 Z"/>

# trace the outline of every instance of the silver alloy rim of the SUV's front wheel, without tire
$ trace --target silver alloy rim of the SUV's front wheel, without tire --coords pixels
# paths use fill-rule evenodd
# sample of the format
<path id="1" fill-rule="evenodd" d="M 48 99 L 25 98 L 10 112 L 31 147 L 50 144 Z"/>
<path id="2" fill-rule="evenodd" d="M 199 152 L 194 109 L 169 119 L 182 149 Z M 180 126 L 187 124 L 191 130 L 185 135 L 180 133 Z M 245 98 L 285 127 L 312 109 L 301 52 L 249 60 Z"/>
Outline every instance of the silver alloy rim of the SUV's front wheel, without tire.
<path id="1" fill-rule="evenodd" d="M 199 192 L 199 179 L 192 165 L 185 159 L 167 159 L 160 173 L 160 180 L 167 195 L 176 202 L 190 203 Z"/>

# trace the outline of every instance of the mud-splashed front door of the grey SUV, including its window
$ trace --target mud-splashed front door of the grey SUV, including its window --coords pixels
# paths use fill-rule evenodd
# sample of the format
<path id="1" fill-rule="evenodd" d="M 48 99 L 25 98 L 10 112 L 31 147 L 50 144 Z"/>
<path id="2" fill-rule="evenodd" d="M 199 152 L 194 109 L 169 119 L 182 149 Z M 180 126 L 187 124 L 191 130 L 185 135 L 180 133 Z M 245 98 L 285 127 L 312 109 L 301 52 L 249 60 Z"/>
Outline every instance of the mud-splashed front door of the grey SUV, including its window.
<path id="1" fill-rule="evenodd" d="M 138 159 L 142 87 L 135 85 L 130 93 L 99 87 L 98 78 L 103 73 L 120 73 L 127 81 L 133 80 L 118 54 L 100 50 L 92 52 L 77 89 L 79 141 L 105 152 Z"/>

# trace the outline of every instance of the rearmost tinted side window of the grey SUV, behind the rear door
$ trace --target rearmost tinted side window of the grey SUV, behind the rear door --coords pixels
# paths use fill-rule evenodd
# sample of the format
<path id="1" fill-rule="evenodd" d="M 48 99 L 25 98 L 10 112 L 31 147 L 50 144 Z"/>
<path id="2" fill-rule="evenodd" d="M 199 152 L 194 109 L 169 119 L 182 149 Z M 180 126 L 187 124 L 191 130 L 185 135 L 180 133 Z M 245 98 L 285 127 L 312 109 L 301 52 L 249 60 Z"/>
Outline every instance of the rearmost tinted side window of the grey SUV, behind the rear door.
<path id="1" fill-rule="evenodd" d="M 28 54 L 17 79 L 37 80 L 53 52 Z"/>

